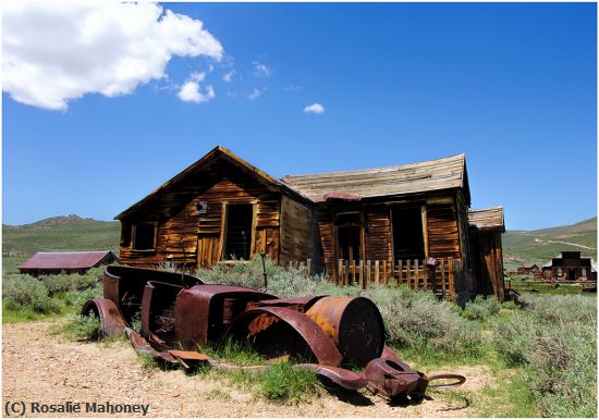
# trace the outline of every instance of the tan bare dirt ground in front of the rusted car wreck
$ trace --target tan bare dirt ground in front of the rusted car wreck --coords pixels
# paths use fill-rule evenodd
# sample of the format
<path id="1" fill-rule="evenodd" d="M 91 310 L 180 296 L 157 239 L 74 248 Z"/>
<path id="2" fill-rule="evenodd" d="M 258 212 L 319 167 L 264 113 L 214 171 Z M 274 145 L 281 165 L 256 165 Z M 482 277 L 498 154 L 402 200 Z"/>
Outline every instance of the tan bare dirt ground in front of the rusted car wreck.
<path id="1" fill-rule="evenodd" d="M 439 397 L 407 407 L 392 407 L 364 394 L 351 404 L 322 392 L 311 403 L 289 406 L 256 399 L 236 386 L 210 376 L 186 376 L 143 367 L 124 342 L 72 343 L 49 334 L 52 324 L 2 325 L 2 409 L 7 402 L 149 404 L 150 417 L 475 417 L 463 402 Z M 474 397 L 488 386 L 486 367 L 464 367 L 469 380 L 462 393 Z M 430 372 L 433 373 L 433 372 Z M 469 396 L 469 394 L 473 396 Z M 5 416 L 5 413 L 4 413 Z M 32 415 L 27 417 L 77 415 Z M 80 415 L 91 417 L 90 413 Z M 107 415 L 97 415 L 106 417 Z M 129 415 L 131 416 L 131 415 Z M 137 415 L 140 416 L 140 415 Z M 122 417 L 122 415 L 114 415 Z"/>

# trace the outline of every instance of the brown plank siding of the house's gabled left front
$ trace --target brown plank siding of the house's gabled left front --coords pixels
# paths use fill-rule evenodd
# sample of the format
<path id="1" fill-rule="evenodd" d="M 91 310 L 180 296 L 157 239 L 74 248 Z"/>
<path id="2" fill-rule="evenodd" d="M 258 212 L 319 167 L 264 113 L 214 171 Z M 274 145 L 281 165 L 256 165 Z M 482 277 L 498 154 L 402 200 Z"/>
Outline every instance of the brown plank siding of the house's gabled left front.
<path id="1" fill-rule="evenodd" d="M 205 213 L 198 210 L 203 201 L 207 203 Z M 222 255 L 227 203 L 255 206 L 253 250 L 265 250 L 278 262 L 280 201 L 278 190 L 231 163 L 217 160 L 122 221 L 123 228 L 135 223 L 154 222 L 158 233 L 154 251 L 132 249 L 133 240 L 121 244 L 121 262 L 150 267 L 167 261 L 184 261 L 187 265 L 198 267 L 215 264 Z"/>

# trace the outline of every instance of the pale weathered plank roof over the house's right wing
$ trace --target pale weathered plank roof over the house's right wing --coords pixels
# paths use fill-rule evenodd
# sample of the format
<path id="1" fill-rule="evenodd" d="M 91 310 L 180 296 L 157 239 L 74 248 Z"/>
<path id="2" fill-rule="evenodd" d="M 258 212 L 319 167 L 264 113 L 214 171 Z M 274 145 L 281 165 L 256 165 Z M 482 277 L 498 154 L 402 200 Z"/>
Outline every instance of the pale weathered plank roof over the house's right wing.
<path id="1" fill-rule="evenodd" d="M 466 202 L 470 201 L 463 153 L 398 166 L 286 175 L 282 181 L 315 202 L 335 195 L 372 198 L 453 188 L 463 188 Z"/>

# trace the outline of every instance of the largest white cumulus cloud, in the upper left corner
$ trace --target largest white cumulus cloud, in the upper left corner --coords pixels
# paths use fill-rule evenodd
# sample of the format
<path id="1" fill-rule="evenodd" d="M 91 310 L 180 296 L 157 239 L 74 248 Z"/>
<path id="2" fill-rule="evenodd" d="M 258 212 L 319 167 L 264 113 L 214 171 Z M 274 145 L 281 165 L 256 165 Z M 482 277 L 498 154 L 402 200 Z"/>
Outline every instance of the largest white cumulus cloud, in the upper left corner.
<path id="1" fill-rule="evenodd" d="M 9 1 L 2 9 L 2 89 L 35 107 L 64 110 L 86 94 L 131 94 L 166 77 L 175 55 L 223 57 L 203 22 L 156 3 Z"/>

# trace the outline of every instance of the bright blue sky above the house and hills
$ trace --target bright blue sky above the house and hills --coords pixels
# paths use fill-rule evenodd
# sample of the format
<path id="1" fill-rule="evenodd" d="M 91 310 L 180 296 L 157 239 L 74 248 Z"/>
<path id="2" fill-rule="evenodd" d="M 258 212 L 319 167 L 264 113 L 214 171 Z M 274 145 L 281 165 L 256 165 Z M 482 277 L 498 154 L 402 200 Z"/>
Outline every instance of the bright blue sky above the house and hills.
<path id="1" fill-rule="evenodd" d="M 143 59 L 158 70 L 125 82 L 102 60 L 133 38 L 105 21 L 97 51 L 71 57 L 66 30 L 27 51 L 4 44 L 4 69 L 14 52 L 42 72 L 4 70 L 3 223 L 112 220 L 217 144 L 273 176 L 465 152 L 472 207 L 504 206 L 509 230 L 597 213 L 594 3 L 162 7 L 204 49 L 173 38 L 160 69 L 157 32 Z M 51 13 L 19 18 L 3 42 L 57 26 Z"/>

